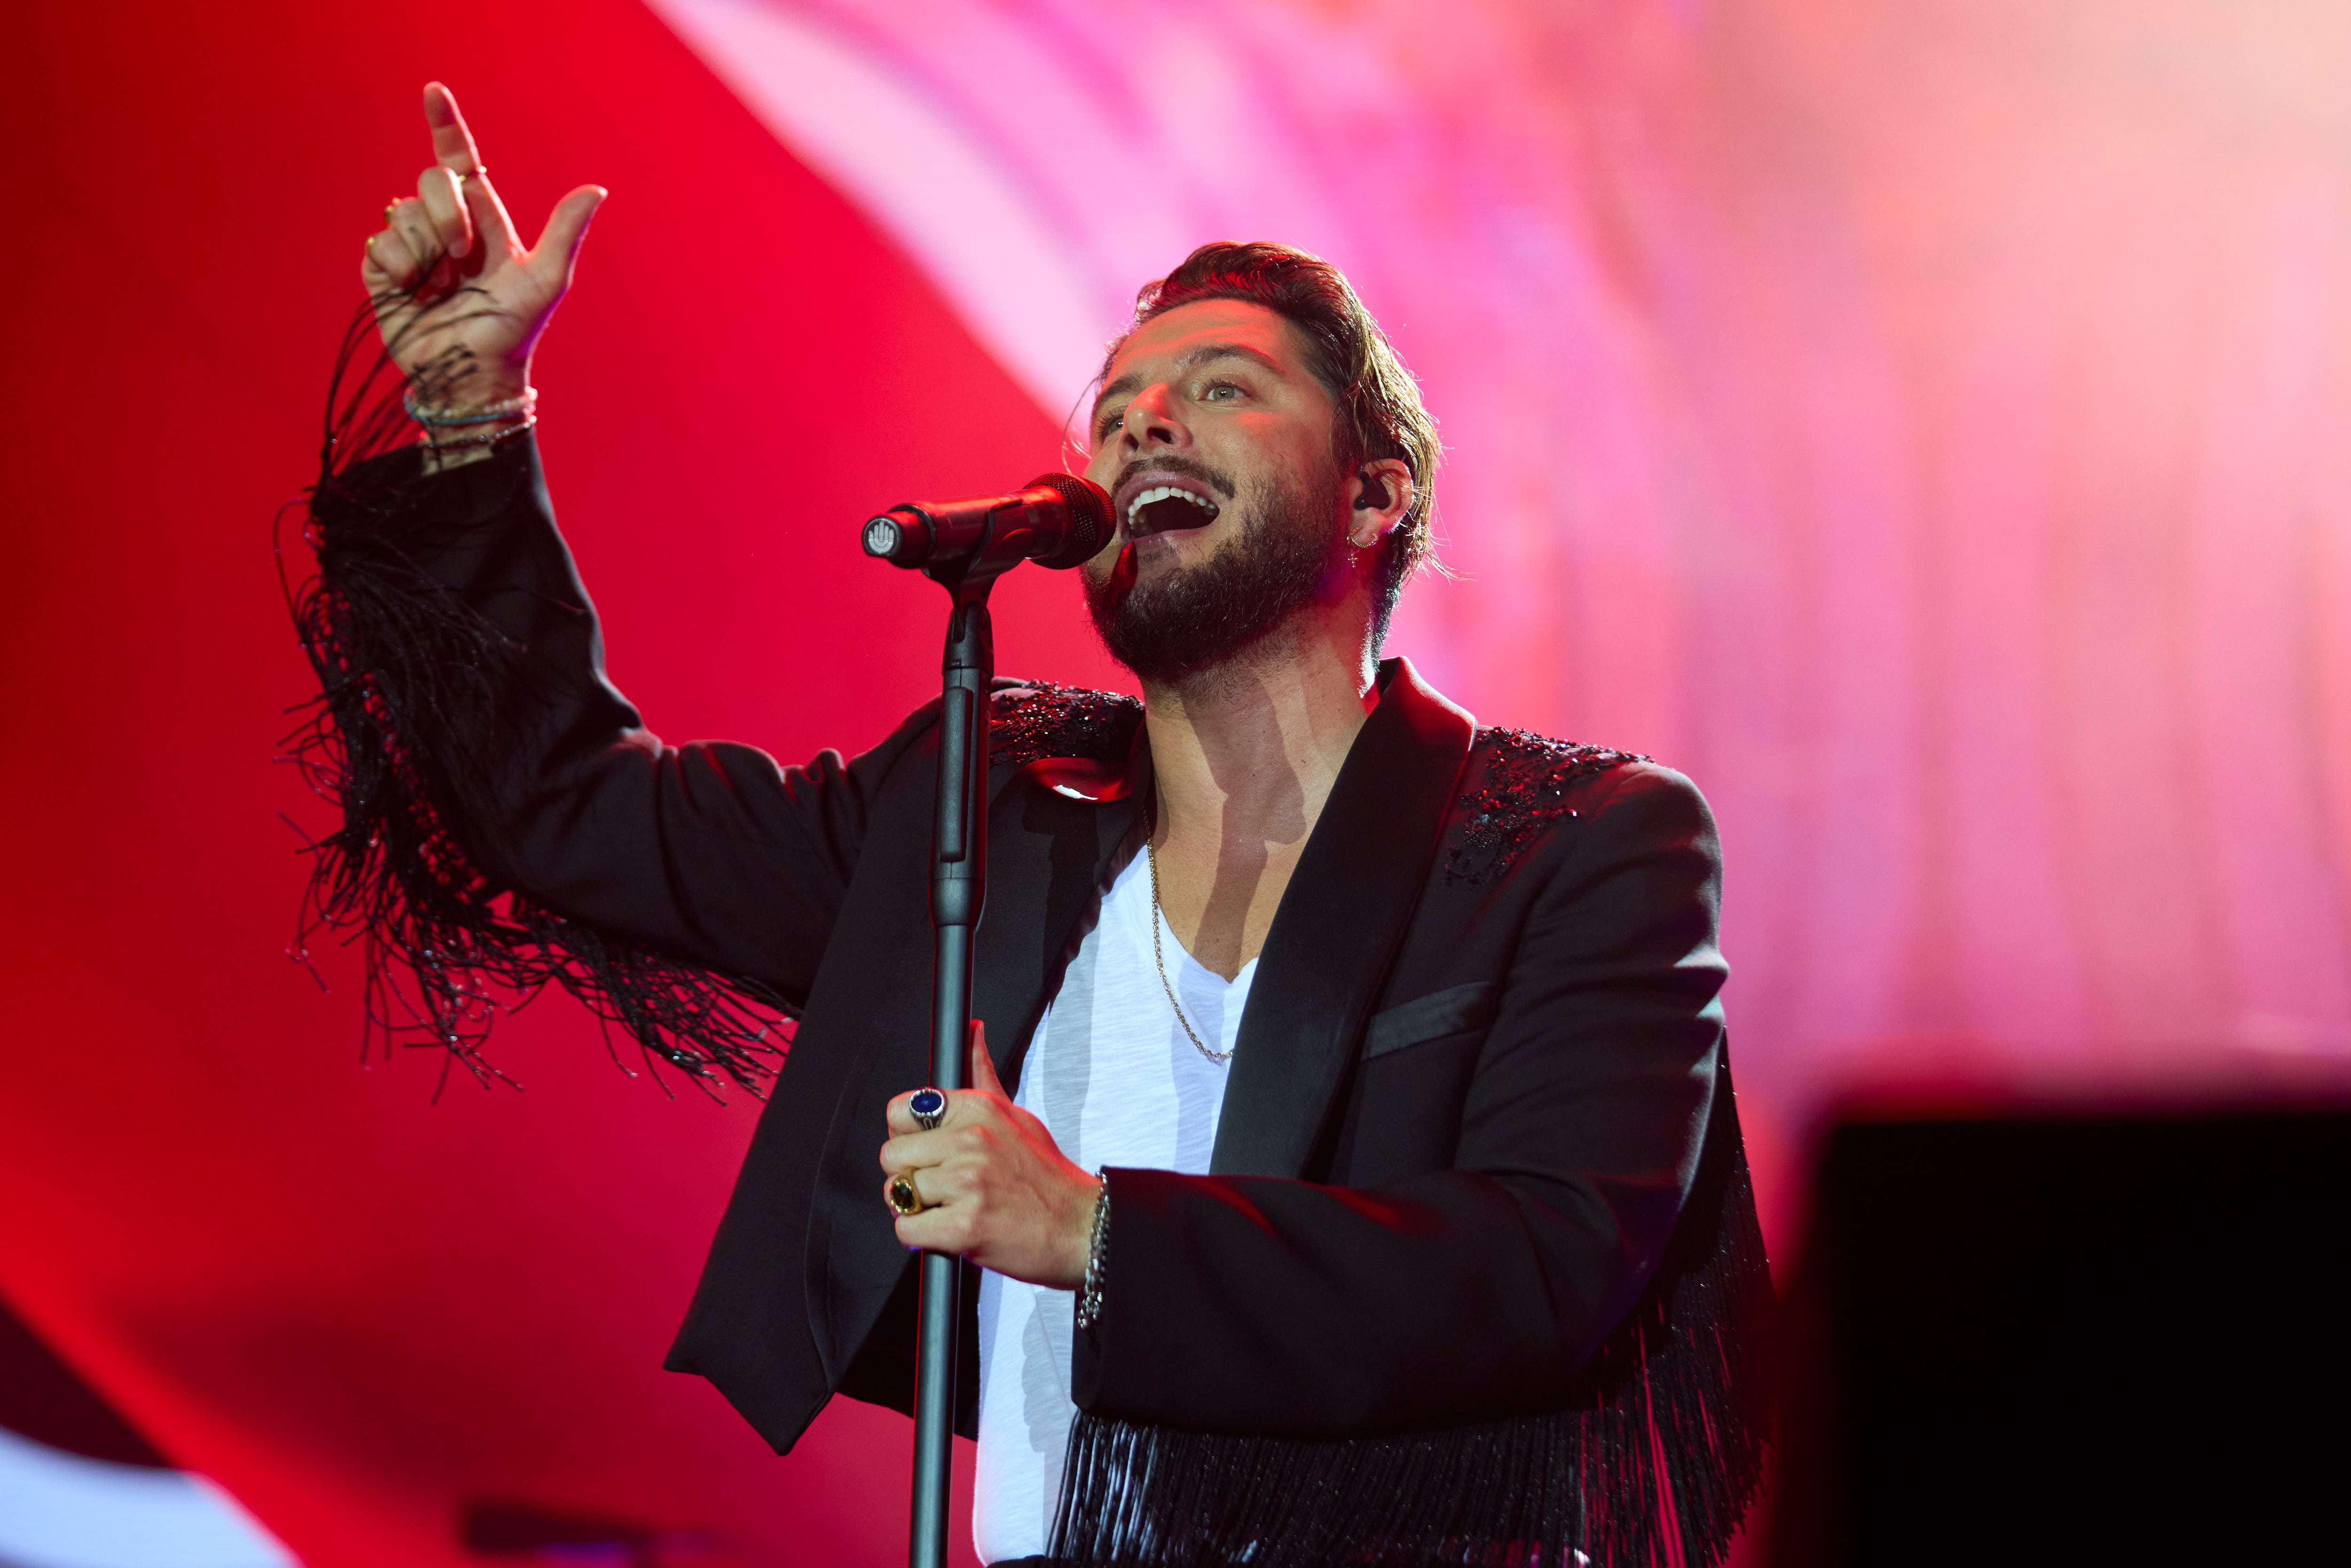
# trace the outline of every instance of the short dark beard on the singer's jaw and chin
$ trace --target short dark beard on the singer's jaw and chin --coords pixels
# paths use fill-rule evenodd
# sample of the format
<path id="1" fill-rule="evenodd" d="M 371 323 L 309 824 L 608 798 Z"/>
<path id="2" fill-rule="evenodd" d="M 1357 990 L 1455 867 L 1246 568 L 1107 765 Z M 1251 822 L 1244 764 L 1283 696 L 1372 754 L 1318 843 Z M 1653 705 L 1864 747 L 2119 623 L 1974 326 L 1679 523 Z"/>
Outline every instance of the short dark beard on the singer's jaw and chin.
<path id="1" fill-rule="evenodd" d="M 1328 496 L 1328 487 L 1319 494 Z M 1136 545 L 1126 545 L 1105 578 L 1086 578 L 1093 630 L 1136 679 L 1187 684 L 1321 597 L 1342 550 L 1331 524 L 1305 487 L 1281 482 L 1244 531 L 1204 562 L 1138 583 Z"/>

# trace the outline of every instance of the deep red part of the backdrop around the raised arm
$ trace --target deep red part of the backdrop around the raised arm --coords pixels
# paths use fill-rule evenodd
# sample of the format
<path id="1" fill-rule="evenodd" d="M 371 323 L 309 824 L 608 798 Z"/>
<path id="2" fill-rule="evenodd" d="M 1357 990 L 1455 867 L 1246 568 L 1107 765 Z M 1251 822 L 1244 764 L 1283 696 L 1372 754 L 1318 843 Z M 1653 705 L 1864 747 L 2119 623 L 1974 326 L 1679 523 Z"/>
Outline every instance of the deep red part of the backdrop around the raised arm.
<path id="1" fill-rule="evenodd" d="M 856 524 L 1058 465 L 1056 428 L 628 0 L 9 33 L 0 1295 L 310 1563 L 465 1561 L 484 1497 L 898 1556 L 898 1415 L 837 1406 L 776 1460 L 658 1371 L 752 1103 L 623 1077 L 550 997 L 498 1030 L 522 1093 L 433 1105 L 430 1053 L 360 1067 L 353 954 L 320 954 L 331 994 L 287 961 L 280 813 L 322 811 L 270 764 L 308 691 L 270 515 L 435 75 L 524 230 L 614 190 L 538 362 L 543 449 L 658 731 L 879 736 L 936 686 L 940 607 L 860 569 Z M 1006 672 L 1117 682 L 1067 581 L 999 604 Z"/>

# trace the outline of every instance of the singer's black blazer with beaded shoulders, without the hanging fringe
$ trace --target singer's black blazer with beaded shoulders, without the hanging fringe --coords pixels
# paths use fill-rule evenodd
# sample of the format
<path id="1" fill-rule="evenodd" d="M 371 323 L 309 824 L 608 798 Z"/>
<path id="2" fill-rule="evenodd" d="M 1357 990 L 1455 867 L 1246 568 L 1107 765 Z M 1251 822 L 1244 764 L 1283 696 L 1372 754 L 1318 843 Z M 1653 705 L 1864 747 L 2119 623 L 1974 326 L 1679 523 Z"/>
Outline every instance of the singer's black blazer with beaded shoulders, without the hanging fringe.
<path id="1" fill-rule="evenodd" d="M 494 628 L 482 701 L 390 741 L 484 886 L 799 1011 L 668 1366 L 776 1450 L 835 1392 L 907 1408 L 915 1269 L 875 1150 L 929 1063 L 936 705 L 851 762 L 665 745 L 602 675 L 529 440 L 393 489 L 322 496 L 324 588 L 357 604 L 404 564 L 411 611 Z M 1124 1432 L 1128 1460 L 1152 1432 L 1345 1446 L 1622 1403 L 1601 1352 L 1662 1300 L 1674 1239 L 1721 1274 L 1726 1225 L 1751 1232 L 1700 792 L 1481 729 L 1401 658 L 1380 691 L 1267 936 L 1211 1175 L 1110 1171 L 1072 1389 L 1081 1441 Z M 973 1011 L 1006 1084 L 1150 788 L 1140 705 L 999 689 Z M 1639 1373 L 1648 1340 L 1610 1354 Z M 976 1354 L 962 1373 L 971 1432 Z"/>

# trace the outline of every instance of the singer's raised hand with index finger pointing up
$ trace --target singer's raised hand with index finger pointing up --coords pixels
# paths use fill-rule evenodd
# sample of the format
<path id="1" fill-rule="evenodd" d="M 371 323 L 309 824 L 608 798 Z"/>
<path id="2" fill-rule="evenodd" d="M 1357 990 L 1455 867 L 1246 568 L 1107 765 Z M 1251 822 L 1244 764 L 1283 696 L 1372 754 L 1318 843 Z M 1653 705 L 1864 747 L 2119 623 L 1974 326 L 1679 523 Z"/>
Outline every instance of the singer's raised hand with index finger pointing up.
<path id="1" fill-rule="evenodd" d="M 433 167 L 416 195 L 386 207 L 369 235 L 360 282 L 400 371 L 428 402 L 468 409 L 515 397 L 531 378 L 531 348 L 571 287 L 602 186 L 555 205 L 538 244 L 522 249 L 489 183 L 456 96 L 426 85 Z"/>

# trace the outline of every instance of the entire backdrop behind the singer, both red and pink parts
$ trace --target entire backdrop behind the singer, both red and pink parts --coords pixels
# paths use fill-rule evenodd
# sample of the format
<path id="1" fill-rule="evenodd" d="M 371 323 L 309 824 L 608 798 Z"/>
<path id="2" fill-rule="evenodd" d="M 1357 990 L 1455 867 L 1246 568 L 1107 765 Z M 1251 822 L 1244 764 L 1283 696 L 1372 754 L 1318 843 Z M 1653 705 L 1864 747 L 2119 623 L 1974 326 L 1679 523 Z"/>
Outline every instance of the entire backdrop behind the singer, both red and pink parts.
<path id="1" fill-rule="evenodd" d="M 656 731 L 882 733 L 938 604 L 856 522 L 1053 465 L 1136 282 L 1288 237 L 1444 421 L 1465 578 L 1396 646 L 1721 813 L 1777 1251 L 1857 1081 L 2351 1058 L 2342 7 L 19 12 L 0 1295 L 320 1568 L 465 1561 L 477 1505 L 903 1552 L 900 1418 L 773 1460 L 658 1371 L 748 1103 L 550 999 L 496 1041 L 524 1093 L 430 1105 L 435 1060 L 357 1065 L 350 954 L 331 994 L 282 954 L 320 811 L 270 764 L 308 675 L 268 517 L 428 78 L 527 228 L 614 190 L 543 449 Z M 1072 583 L 999 604 L 1006 672 L 1121 684 Z"/>

